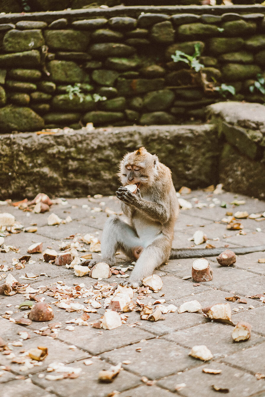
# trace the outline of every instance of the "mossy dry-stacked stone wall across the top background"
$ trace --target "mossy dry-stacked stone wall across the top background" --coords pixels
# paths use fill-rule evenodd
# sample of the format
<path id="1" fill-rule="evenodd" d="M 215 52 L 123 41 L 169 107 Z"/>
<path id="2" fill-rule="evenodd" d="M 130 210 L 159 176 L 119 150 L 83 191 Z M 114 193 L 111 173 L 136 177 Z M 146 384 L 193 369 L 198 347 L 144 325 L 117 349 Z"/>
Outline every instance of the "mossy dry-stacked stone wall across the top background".
<path id="1" fill-rule="evenodd" d="M 203 119 L 222 96 L 171 58 L 192 55 L 195 43 L 210 85 L 263 103 L 249 87 L 265 75 L 264 14 L 176 6 L 0 15 L 0 132 Z"/>

